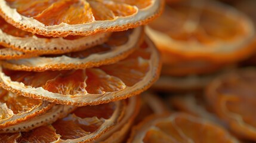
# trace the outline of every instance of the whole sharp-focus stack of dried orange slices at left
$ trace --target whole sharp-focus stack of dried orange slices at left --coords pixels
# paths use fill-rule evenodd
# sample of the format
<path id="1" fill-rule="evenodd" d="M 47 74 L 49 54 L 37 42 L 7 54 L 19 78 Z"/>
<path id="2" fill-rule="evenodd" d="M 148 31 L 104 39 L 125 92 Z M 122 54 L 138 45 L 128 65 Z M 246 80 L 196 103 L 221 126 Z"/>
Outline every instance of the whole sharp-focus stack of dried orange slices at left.
<path id="1" fill-rule="evenodd" d="M 0 0 L 0 142 L 122 142 L 160 73 L 141 26 L 163 8 Z"/>

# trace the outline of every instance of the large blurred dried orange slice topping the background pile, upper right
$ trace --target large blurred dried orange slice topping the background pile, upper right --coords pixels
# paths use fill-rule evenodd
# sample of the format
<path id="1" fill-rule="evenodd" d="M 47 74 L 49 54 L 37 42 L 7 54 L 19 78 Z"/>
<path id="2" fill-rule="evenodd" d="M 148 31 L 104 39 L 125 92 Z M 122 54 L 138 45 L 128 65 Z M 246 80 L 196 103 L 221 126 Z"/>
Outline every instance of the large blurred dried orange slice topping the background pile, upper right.
<path id="1" fill-rule="evenodd" d="M 232 63 L 255 51 L 252 21 L 227 5 L 185 1 L 168 5 L 164 14 L 146 27 L 164 57 Z"/>

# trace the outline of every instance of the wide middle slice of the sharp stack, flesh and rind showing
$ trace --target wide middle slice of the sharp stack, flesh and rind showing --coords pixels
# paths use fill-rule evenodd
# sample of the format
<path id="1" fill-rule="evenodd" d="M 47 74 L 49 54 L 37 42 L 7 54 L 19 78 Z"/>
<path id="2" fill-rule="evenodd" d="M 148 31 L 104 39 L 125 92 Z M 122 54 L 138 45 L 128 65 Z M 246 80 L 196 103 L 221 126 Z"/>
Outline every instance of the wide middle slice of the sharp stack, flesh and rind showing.
<path id="1" fill-rule="evenodd" d="M 35 99 L 66 105 L 95 105 L 140 94 L 159 77 L 155 45 L 146 41 L 125 60 L 82 70 L 13 71 L 0 69 L 1 86 Z"/>

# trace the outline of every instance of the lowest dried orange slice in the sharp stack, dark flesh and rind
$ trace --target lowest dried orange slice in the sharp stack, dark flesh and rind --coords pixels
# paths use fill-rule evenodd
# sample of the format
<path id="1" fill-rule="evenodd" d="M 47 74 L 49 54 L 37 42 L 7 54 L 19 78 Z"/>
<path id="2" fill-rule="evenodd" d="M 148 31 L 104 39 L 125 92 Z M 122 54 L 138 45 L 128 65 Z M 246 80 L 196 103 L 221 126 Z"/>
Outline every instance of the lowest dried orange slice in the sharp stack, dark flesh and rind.
<path id="1" fill-rule="evenodd" d="M 17 142 L 93 142 L 113 129 L 125 110 L 128 110 L 126 101 L 79 107 L 51 125 L 8 135 L 15 136 L 13 140 Z M 4 136 L 7 134 L 0 134 L 0 138 Z"/>

